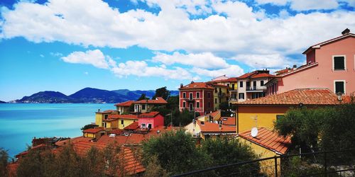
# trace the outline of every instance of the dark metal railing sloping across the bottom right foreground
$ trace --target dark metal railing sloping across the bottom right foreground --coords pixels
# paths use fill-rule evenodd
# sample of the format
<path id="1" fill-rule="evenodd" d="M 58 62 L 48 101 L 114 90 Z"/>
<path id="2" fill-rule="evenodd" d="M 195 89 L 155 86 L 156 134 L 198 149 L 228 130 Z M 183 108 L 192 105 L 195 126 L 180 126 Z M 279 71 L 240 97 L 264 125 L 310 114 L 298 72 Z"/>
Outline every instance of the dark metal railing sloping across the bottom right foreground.
<path id="1" fill-rule="evenodd" d="M 190 171 L 176 176 L 355 176 L 355 149 L 288 154 Z"/>

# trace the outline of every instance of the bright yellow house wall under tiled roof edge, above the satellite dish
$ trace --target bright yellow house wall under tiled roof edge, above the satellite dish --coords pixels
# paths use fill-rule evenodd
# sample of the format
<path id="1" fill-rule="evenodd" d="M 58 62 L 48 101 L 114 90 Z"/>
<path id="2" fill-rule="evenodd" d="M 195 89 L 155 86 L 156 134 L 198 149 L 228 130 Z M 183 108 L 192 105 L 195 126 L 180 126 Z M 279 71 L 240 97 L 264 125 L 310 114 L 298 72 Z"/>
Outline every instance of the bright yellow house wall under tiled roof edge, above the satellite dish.
<path id="1" fill-rule="evenodd" d="M 273 129 L 273 122 L 276 115 L 283 115 L 289 109 L 288 106 L 238 106 L 239 132 L 251 130 L 255 127 L 255 120 L 252 117 L 257 115 L 257 126 Z"/>

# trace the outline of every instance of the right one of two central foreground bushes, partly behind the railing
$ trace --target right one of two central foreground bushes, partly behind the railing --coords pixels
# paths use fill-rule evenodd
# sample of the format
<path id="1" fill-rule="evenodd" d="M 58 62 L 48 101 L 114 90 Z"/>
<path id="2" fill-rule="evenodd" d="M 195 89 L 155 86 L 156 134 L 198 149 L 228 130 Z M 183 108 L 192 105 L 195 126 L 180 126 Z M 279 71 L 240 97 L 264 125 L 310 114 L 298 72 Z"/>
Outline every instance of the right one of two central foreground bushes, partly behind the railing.
<path id="1" fill-rule="evenodd" d="M 254 154 L 251 147 L 242 144 L 238 139 L 207 139 L 202 142 L 201 147 L 204 154 L 208 154 L 212 158 L 213 166 L 221 166 L 224 164 L 232 164 L 241 161 L 250 161 L 258 159 Z M 218 176 L 228 175 L 230 173 L 238 173 L 239 176 L 249 176 L 250 174 L 256 175 L 260 171 L 260 166 L 256 164 L 247 164 L 247 166 L 239 166 L 234 168 L 220 169 L 215 171 Z"/>

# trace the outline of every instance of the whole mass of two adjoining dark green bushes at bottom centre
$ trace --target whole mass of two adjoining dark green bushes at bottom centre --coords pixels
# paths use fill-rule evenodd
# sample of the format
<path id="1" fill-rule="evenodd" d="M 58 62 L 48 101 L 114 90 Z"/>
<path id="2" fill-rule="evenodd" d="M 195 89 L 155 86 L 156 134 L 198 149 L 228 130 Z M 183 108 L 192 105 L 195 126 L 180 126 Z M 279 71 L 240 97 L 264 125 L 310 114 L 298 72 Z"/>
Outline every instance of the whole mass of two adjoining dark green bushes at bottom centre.
<path id="1" fill-rule="evenodd" d="M 236 140 L 209 139 L 196 146 L 191 135 L 183 130 L 166 132 L 160 137 L 153 137 L 143 143 L 143 161 L 146 166 L 155 166 L 158 171 L 166 171 L 169 175 L 206 169 L 210 166 L 231 164 L 239 161 L 256 159 L 250 147 Z M 154 164 L 152 164 L 154 162 Z M 258 173 L 259 165 L 243 166 L 243 174 Z M 155 173 L 158 173 L 156 171 Z M 221 176 L 225 173 L 241 172 L 239 168 L 212 171 L 207 176 Z M 150 173 L 154 173 L 151 171 Z"/>

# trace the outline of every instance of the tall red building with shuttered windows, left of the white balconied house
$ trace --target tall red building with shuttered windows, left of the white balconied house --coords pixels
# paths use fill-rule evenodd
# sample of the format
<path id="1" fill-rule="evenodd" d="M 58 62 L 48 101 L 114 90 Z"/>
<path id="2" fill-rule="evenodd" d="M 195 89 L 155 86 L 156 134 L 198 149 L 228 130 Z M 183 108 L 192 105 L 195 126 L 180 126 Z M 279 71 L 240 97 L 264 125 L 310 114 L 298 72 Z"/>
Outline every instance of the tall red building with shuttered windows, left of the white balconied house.
<path id="1" fill-rule="evenodd" d="M 205 115 L 214 110 L 214 88 L 204 82 L 194 82 L 186 86 L 180 85 L 179 109 Z"/>

